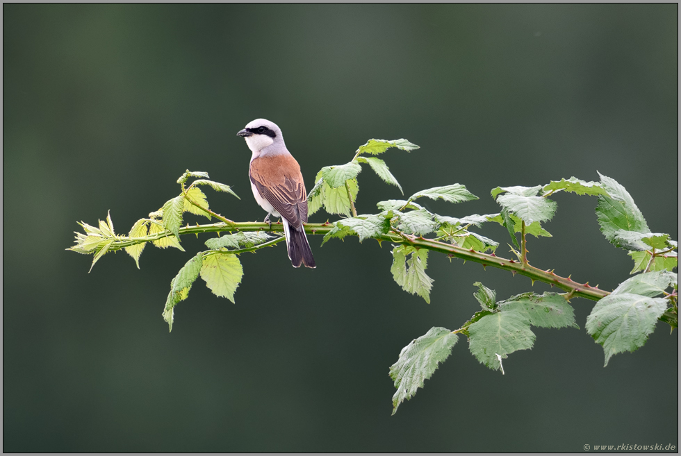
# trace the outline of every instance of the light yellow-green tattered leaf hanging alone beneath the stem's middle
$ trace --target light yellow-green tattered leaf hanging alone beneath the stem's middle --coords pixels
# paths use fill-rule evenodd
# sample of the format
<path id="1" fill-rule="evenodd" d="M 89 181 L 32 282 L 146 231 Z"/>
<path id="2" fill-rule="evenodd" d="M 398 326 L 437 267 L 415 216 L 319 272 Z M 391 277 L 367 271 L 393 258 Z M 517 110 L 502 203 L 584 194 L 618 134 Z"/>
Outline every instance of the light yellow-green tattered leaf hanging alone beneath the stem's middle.
<path id="1" fill-rule="evenodd" d="M 411 254 L 409 260 L 407 255 Z M 428 266 L 428 251 L 425 248 L 416 250 L 412 246 L 393 248 L 393 266 L 390 271 L 393 279 L 405 292 L 418 294 L 425 302 L 430 303 L 430 289 L 433 280 L 425 273 Z"/>

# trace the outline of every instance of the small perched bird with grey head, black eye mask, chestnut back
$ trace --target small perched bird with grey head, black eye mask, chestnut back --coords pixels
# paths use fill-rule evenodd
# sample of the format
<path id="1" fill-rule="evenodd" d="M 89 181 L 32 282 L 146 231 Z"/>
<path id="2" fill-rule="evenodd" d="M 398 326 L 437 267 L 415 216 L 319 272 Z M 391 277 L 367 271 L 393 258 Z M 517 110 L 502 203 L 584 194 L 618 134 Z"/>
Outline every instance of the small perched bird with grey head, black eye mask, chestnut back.
<path id="1" fill-rule="evenodd" d="M 281 217 L 286 250 L 293 267 L 317 267 L 307 242 L 303 223 L 307 222 L 307 192 L 300 166 L 284 144 L 281 129 L 265 119 L 255 119 L 236 134 L 251 149 L 248 176 L 257 203 L 268 212 L 265 222 Z"/>

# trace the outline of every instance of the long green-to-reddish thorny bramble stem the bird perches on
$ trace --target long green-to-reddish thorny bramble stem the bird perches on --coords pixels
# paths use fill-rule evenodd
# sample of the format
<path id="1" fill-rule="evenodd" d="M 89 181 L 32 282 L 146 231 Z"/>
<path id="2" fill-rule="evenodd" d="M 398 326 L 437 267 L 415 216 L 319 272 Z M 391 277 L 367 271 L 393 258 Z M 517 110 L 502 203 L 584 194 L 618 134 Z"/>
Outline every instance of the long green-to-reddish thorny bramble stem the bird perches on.
<path id="1" fill-rule="evenodd" d="M 304 225 L 305 233 L 310 235 L 326 235 L 334 229 L 333 223 L 307 223 Z M 272 223 L 270 227 L 269 223 L 261 222 L 234 222 L 233 224 L 226 223 L 215 223 L 211 225 L 196 225 L 196 226 L 185 226 L 179 229 L 180 235 L 186 234 L 198 234 L 198 233 L 224 233 L 232 231 L 273 231 L 277 233 L 284 232 L 284 226 L 281 223 Z M 395 233 L 399 236 L 399 233 Z M 546 270 L 530 266 L 530 264 L 522 264 L 521 262 L 515 260 L 509 260 L 507 258 L 498 257 L 494 254 L 481 253 L 473 250 L 467 250 L 466 248 L 461 248 L 452 244 L 447 244 L 445 242 L 439 242 L 434 239 L 427 239 L 424 237 L 416 236 L 405 236 L 403 238 L 395 237 L 395 234 L 390 233 L 386 235 L 377 236 L 375 239 L 379 241 L 388 241 L 393 244 L 404 244 L 411 245 L 416 248 L 426 248 L 430 251 L 436 251 L 439 253 L 444 253 L 450 257 L 461 258 L 462 260 L 472 261 L 482 264 L 484 267 L 491 266 L 498 269 L 503 269 L 504 271 L 511 271 L 514 274 L 520 274 L 520 276 L 529 277 L 532 280 L 539 280 L 540 282 L 548 283 L 554 287 L 564 290 L 571 294 L 571 297 L 581 297 L 591 299 L 593 301 L 598 301 L 600 298 L 605 298 L 609 294 L 605 290 L 598 289 L 596 287 L 591 287 L 588 284 L 582 284 L 574 282 L 571 278 L 565 278 L 557 276 L 553 271 Z M 123 240 L 114 241 L 110 247 L 109 251 L 119 250 L 127 246 L 132 246 L 135 244 L 140 244 L 142 242 L 155 241 L 162 239 L 163 237 L 172 236 L 170 232 L 156 233 L 154 235 L 147 235 L 145 237 L 135 237 Z M 274 239 L 277 240 L 277 239 Z M 278 241 L 277 241 L 278 242 Z M 266 243 L 265 243 L 266 244 Z M 271 244 L 270 244 L 271 245 Z M 259 246 L 254 246 L 251 251 L 262 248 L 264 244 Z"/>

